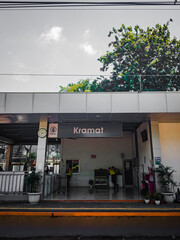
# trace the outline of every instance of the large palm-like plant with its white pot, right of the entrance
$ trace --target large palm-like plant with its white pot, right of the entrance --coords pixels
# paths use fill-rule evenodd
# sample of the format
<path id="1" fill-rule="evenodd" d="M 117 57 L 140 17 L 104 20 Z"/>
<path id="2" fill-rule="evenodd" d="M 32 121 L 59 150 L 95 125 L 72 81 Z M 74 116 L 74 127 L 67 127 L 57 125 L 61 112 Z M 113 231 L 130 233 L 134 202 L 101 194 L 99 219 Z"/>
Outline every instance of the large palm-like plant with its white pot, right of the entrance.
<path id="1" fill-rule="evenodd" d="M 174 186 L 176 186 L 176 183 L 173 180 L 173 173 L 175 172 L 175 170 L 171 167 L 165 167 L 163 164 L 160 164 L 159 168 L 156 169 L 156 172 L 160 177 L 164 201 L 167 203 L 173 203 Z"/>

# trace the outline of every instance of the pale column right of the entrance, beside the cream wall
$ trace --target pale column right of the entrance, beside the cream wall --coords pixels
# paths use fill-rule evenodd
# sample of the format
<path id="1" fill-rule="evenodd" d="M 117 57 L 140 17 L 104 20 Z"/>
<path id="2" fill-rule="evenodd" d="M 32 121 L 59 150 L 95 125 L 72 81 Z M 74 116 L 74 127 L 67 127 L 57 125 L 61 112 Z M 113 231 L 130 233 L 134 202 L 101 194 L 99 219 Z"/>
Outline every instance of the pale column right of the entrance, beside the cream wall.
<path id="1" fill-rule="evenodd" d="M 151 121 L 151 147 L 153 165 L 155 168 L 161 163 L 161 144 L 159 135 L 159 123 L 157 121 Z M 157 174 L 155 174 L 156 191 L 160 191 L 160 185 Z"/>

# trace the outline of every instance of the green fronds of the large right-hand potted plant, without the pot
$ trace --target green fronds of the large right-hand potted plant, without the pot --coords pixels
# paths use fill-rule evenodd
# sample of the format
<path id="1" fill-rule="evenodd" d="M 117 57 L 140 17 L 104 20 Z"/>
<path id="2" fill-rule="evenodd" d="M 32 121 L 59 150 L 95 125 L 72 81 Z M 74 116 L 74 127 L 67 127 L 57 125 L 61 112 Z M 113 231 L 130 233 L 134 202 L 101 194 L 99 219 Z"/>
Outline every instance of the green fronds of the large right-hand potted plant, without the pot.
<path id="1" fill-rule="evenodd" d="M 174 190 L 174 186 L 176 186 L 176 183 L 173 180 L 173 173 L 175 172 L 175 170 L 171 167 L 165 167 L 163 164 L 160 164 L 159 168 L 156 169 L 156 172 L 160 177 L 162 187 L 165 189 L 165 191 L 171 192 L 172 189 Z"/>

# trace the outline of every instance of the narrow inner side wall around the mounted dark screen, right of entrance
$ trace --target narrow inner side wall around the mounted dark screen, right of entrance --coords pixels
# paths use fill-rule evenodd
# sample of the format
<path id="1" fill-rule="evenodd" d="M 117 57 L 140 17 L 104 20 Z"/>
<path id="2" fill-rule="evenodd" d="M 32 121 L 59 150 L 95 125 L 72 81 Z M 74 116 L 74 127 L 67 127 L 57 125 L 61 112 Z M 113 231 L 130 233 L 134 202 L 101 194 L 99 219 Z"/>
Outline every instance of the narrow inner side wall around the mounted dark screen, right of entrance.
<path id="1" fill-rule="evenodd" d="M 148 140 L 143 142 L 141 139 L 141 132 L 145 129 L 147 130 Z M 143 167 L 144 172 L 148 172 L 148 167 L 152 167 L 149 124 L 147 122 L 142 123 L 137 129 L 137 141 L 139 152 L 139 181 L 141 181 Z"/>

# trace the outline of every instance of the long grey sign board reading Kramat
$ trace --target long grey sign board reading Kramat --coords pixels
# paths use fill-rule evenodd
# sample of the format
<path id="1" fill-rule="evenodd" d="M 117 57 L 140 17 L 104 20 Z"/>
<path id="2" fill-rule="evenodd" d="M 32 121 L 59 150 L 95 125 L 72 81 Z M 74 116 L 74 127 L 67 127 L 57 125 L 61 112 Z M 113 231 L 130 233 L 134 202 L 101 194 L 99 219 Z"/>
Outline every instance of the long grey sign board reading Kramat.
<path id="1" fill-rule="evenodd" d="M 59 125 L 59 138 L 122 137 L 122 124 L 64 123 Z"/>

